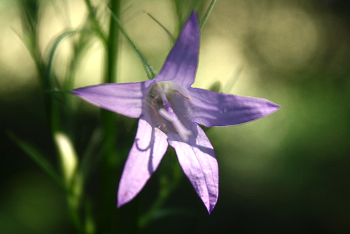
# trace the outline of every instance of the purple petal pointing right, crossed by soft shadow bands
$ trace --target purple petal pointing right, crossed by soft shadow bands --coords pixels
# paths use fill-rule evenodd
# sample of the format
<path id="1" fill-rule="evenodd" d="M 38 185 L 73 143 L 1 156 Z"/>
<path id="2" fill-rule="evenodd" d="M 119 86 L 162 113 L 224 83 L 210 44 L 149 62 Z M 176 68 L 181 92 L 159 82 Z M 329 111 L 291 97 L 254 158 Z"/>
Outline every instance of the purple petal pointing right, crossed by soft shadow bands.
<path id="1" fill-rule="evenodd" d="M 279 106 L 263 98 L 189 88 L 192 121 L 205 127 L 245 123 L 275 112 Z"/>

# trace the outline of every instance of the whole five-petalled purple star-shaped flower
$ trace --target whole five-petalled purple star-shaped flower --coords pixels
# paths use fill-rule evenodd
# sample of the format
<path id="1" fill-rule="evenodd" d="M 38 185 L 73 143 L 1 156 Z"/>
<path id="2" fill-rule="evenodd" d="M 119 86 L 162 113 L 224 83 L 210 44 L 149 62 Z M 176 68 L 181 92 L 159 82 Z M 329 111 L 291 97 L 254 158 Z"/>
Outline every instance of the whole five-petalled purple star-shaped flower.
<path id="1" fill-rule="evenodd" d="M 117 206 L 140 192 L 170 145 L 210 213 L 218 197 L 218 167 L 213 147 L 198 124 L 205 127 L 240 124 L 279 108 L 266 99 L 190 87 L 198 63 L 199 38 L 198 18 L 192 12 L 153 80 L 73 90 L 93 105 L 139 118 L 119 182 Z"/>

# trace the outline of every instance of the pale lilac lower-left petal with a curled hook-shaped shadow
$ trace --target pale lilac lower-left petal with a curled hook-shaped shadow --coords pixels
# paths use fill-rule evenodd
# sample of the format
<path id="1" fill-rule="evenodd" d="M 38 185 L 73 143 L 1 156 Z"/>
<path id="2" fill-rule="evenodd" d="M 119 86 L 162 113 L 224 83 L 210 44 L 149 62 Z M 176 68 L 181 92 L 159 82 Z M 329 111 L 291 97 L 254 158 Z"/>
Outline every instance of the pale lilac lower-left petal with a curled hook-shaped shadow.
<path id="1" fill-rule="evenodd" d="M 141 116 L 135 140 L 126 159 L 118 188 L 117 206 L 132 200 L 157 169 L 168 143 L 166 135 Z"/>

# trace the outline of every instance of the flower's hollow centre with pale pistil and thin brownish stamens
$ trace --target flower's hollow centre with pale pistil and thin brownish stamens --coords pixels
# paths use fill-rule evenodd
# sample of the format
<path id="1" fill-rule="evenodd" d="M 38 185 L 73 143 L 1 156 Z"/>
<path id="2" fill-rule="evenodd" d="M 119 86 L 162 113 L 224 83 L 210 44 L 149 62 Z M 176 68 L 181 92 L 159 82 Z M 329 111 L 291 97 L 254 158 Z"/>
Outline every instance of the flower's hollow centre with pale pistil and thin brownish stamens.
<path id="1" fill-rule="evenodd" d="M 153 125 L 161 127 L 165 133 L 177 133 L 183 141 L 188 141 L 192 132 L 184 126 L 184 123 L 188 125 L 186 116 L 190 102 L 185 96 L 185 89 L 172 82 L 158 82 L 153 85 L 148 97 L 151 107 L 148 114 Z"/>

